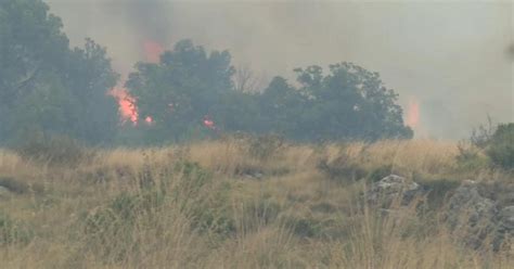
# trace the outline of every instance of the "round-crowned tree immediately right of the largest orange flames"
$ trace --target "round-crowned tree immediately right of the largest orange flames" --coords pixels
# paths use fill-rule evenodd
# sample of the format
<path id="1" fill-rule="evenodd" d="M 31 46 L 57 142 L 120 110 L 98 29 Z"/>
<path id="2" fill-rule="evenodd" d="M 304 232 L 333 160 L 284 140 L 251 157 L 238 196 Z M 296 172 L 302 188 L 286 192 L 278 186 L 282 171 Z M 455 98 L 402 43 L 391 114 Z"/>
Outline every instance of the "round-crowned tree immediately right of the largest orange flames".
<path id="1" fill-rule="evenodd" d="M 160 131 L 162 139 L 180 140 L 232 90 L 230 62 L 228 51 L 207 53 L 182 40 L 163 53 L 159 63 L 138 63 L 126 86 L 137 99 L 140 116 L 153 117 L 153 131 Z"/>

